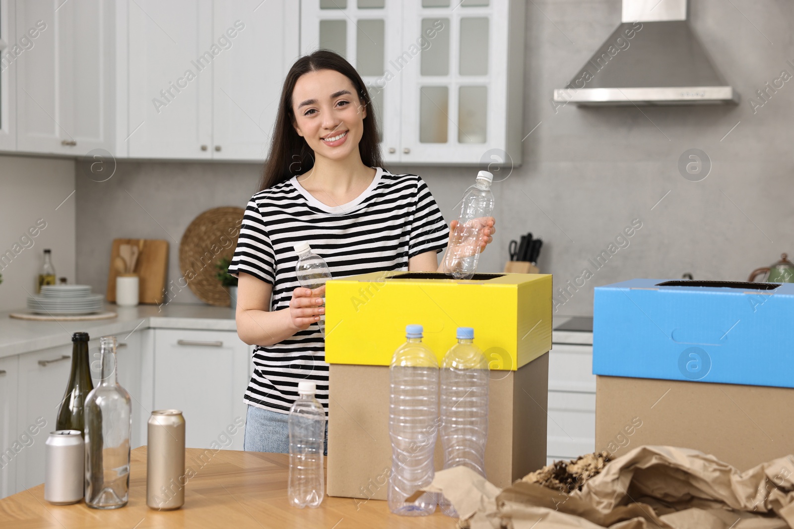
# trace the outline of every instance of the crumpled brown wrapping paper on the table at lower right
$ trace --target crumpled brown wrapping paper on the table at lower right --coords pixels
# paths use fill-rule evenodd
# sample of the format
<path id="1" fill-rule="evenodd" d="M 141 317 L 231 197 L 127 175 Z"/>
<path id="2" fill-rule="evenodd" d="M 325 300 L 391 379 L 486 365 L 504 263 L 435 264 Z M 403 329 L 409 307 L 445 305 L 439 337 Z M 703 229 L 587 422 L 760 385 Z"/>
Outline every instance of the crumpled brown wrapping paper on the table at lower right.
<path id="1" fill-rule="evenodd" d="M 516 481 L 499 489 L 466 467 L 439 470 L 471 529 L 794 529 L 794 456 L 740 472 L 712 455 L 638 447 L 571 494 Z"/>

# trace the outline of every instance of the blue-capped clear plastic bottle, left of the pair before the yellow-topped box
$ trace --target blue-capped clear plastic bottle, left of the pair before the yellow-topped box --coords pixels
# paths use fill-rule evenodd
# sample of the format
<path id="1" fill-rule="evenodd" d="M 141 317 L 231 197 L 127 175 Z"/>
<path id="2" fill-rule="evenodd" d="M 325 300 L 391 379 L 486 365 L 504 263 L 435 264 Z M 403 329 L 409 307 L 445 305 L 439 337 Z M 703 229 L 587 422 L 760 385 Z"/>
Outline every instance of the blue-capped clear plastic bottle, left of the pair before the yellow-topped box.
<path id="1" fill-rule="evenodd" d="M 436 510 L 433 493 L 408 503 L 408 496 L 433 481 L 433 450 L 438 427 L 438 362 L 422 344 L 422 325 L 408 325 L 391 358 L 389 436 L 391 476 L 389 510 L 402 516 L 426 516 Z"/>

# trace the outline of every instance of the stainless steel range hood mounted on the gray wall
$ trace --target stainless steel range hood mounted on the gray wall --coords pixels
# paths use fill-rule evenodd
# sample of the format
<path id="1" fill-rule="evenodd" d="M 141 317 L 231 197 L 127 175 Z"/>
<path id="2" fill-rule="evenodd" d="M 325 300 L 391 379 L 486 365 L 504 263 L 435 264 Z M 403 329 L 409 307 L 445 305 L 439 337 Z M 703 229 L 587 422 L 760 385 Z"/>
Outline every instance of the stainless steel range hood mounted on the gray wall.
<path id="1" fill-rule="evenodd" d="M 554 107 L 737 104 L 687 22 L 687 0 L 623 0 L 622 23 Z"/>

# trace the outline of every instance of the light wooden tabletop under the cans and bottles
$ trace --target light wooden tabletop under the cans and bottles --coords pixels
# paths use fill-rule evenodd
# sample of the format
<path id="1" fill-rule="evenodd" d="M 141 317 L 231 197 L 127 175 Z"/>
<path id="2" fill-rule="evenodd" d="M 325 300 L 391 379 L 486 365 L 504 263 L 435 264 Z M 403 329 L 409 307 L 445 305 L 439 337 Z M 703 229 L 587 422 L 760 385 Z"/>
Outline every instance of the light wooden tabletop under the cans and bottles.
<path id="1" fill-rule="evenodd" d="M 206 454 L 202 459 L 198 456 Z M 146 506 L 146 447 L 132 451 L 129 504 L 100 511 L 80 502 L 52 505 L 44 501 L 44 485 L 0 500 L 3 529 L 107 529 L 190 527 L 191 529 L 248 529 L 253 527 L 432 527 L 451 529 L 456 519 L 432 516 L 395 516 L 385 501 L 326 496 L 319 508 L 287 504 L 287 454 L 233 450 L 186 450 L 185 466 L 196 475 L 187 483 L 185 504 L 175 511 L 157 512 Z"/>

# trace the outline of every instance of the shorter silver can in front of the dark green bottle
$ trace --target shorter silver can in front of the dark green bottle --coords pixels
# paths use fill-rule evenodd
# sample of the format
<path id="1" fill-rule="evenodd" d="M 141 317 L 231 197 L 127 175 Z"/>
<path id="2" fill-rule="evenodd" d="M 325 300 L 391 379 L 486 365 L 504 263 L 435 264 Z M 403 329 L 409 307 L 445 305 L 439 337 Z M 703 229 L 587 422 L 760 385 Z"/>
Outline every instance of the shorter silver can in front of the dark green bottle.
<path id="1" fill-rule="evenodd" d="M 50 432 L 44 449 L 44 500 L 76 504 L 86 483 L 85 444 L 79 430 Z"/>

